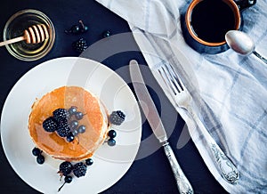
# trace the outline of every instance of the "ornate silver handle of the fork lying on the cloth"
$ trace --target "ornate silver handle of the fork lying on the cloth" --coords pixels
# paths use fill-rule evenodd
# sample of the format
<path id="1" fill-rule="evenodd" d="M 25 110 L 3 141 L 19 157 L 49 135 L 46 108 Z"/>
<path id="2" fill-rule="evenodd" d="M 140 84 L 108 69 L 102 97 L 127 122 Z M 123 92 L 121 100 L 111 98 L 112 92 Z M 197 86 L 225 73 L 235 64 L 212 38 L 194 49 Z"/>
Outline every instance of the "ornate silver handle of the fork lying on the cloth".
<path id="1" fill-rule="evenodd" d="M 190 114 L 198 125 L 201 133 L 205 136 L 208 145 L 207 148 L 212 152 L 215 164 L 220 170 L 223 179 L 231 184 L 237 184 L 239 182 L 239 170 L 237 167 L 234 166 L 231 159 L 223 153 L 223 150 L 221 150 L 216 141 L 214 141 L 210 133 L 207 132 L 205 125 L 191 109 Z"/>

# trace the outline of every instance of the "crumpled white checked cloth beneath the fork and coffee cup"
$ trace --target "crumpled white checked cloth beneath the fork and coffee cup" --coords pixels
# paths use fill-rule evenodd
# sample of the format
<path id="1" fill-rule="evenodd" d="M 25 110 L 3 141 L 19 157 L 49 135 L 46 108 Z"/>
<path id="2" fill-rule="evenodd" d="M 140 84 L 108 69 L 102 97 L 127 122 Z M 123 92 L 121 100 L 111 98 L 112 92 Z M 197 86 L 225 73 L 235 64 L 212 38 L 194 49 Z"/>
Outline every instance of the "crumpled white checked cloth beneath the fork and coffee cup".
<path id="1" fill-rule="evenodd" d="M 232 50 L 210 55 L 191 49 L 180 26 L 181 8 L 190 1 L 96 1 L 128 22 L 150 69 L 167 61 L 182 74 L 185 84 L 197 91 L 205 125 L 240 172 L 237 185 L 225 182 L 206 150 L 205 140 L 195 125 L 189 125 L 191 138 L 214 178 L 230 193 L 267 193 L 267 65 L 255 55 L 243 57 Z M 265 57 L 266 12 L 266 0 L 242 12 L 243 31 Z M 182 62 L 182 55 L 190 62 Z M 176 109 L 185 121 L 190 120 L 186 112 Z"/>

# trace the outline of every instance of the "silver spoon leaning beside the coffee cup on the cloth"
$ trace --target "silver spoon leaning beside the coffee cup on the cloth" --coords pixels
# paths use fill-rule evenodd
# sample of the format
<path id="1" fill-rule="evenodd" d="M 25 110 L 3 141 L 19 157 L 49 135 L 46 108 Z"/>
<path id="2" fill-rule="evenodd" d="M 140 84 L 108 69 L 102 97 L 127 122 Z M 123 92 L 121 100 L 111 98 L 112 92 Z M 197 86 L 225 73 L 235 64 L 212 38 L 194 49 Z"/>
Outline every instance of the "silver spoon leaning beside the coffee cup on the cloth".
<path id="1" fill-rule="evenodd" d="M 267 60 L 259 53 L 255 52 L 255 43 L 245 32 L 230 30 L 225 35 L 226 43 L 232 50 L 241 55 L 254 53 L 260 60 L 267 64 Z"/>

